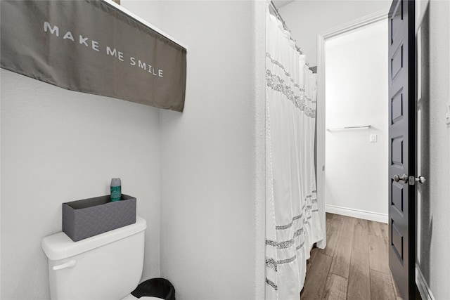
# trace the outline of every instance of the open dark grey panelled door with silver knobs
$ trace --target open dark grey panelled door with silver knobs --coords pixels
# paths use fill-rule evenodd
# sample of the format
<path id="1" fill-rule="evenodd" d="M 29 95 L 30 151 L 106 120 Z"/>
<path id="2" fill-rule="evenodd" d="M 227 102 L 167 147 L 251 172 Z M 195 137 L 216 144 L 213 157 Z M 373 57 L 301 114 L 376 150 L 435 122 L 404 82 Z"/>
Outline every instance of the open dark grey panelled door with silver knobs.
<path id="1" fill-rule="evenodd" d="M 404 299 L 414 299 L 416 97 L 414 1 L 389 13 L 389 266 Z M 413 179 L 413 178 L 412 178 Z M 411 183 L 411 184 L 410 184 Z"/>

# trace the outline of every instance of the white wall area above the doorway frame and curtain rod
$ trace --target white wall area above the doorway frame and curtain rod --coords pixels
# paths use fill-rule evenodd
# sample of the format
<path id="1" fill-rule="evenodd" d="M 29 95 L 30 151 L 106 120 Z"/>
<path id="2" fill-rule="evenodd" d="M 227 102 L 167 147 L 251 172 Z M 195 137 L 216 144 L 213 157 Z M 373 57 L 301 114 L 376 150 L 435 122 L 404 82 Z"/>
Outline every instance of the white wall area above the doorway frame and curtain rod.
<path id="1" fill-rule="evenodd" d="M 297 0 L 280 8 L 297 46 L 317 65 L 317 34 L 390 7 L 388 0 Z"/>

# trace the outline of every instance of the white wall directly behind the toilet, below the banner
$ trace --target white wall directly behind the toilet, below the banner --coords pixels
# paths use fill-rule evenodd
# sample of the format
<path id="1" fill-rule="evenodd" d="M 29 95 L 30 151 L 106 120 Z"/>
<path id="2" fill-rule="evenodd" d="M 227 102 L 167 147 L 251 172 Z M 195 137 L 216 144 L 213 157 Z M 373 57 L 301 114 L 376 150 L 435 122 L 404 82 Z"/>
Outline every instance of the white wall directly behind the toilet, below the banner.
<path id="1" fill-rule="evenodd" d="M 50 299 L 41 240 L 61 204 L 122 192 L 147 220 L 144 277 L 160 275 L 158 109 L 1 69 L 1 299 Z"/>

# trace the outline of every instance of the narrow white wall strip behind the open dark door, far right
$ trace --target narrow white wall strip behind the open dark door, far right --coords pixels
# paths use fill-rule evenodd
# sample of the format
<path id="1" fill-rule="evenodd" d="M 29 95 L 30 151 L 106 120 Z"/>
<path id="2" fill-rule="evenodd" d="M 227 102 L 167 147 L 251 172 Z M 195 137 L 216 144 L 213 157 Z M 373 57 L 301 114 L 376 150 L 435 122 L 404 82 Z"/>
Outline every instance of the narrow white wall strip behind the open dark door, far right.
<path id="1" fill-rule="evenodd" d="M 417 263 L 425 295 L 450 294 L 450 3 L 416 1 L 423 15 L 418 31 L 418 185 Z M 419 20 L 416 18 L 416 22 Z M 423 282 L 419 282 L 423 283 Z"/>

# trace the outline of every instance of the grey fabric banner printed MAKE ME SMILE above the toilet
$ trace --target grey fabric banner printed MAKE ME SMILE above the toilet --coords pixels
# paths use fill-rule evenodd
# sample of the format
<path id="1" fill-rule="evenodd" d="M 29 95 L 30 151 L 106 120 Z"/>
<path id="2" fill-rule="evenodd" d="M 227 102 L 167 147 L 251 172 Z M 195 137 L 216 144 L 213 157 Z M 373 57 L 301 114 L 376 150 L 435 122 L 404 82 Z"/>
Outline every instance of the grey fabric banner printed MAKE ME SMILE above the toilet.
<path id="1" fill-rule="evenodd" d="M 105 1 L 0 1 L 1 67 L 182 112 L 186 48 Z"/>

